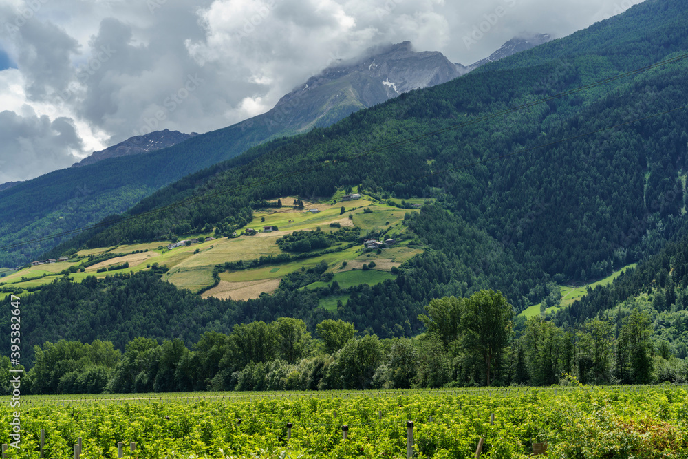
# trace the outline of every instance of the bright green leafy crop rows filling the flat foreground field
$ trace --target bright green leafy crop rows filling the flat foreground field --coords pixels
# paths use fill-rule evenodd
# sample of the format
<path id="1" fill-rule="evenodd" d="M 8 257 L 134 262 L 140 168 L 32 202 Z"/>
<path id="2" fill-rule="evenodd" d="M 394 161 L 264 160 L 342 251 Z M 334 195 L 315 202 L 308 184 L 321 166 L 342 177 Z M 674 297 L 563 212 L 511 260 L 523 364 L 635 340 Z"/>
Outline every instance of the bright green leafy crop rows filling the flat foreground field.
<path id="1" fill-rule="evenodd" d="M 7 458 L 41 457 L 41 429 L 45 458 L 75 457 L 79 441 L 81 459 L 406 458 L 409 446 L 415 458 L 473 458 L 479 444 L 483 458 L 526 458 L 539 447 L 554 458 L 688 458 L 688 392 L 669 385 L 21 401 L 21 449 Z M 0 403 L 0 442 L 9 444 L 13 410 Z"/>

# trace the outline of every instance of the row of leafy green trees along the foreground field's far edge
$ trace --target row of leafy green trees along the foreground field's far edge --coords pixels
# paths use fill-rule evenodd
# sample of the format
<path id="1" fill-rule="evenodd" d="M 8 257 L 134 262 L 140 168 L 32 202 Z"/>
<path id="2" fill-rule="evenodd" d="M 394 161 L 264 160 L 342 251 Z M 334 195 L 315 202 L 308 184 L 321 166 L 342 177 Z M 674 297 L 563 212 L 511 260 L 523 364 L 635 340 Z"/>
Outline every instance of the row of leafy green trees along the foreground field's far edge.
<path id="1" fill-rule="evenodd" d="M 683 383 L 688 367 L 652 339 L 647 312 L 634 310 L 618 336 L 607 319 L 576 331 L 533 317 L 514 323 L 506 297 L 480 290 L 434 299 L 413 338 L 380 339 L 352 323 L 325 319 L 315 337 L 290 317 L 182 339 L 137 337 L 124 352 L 110 341 L 60 340 L 36 346 L 26 394 L 204 390 L 325 390 L 583 383 Z M 0 359 L 0 387 L 9 387 Z M 2 383 L 5 381 L 6 383 Z"/>

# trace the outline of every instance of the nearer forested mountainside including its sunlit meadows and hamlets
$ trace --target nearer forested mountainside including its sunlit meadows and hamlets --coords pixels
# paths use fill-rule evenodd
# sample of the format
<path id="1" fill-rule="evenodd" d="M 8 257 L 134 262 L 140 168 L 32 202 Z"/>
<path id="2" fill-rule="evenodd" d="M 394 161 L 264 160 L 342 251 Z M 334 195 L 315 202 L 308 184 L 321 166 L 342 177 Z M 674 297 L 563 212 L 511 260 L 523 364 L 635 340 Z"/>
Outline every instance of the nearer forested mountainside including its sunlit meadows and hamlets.
<path id="1" fill-rule="evenodd" d="M 58 339 L 108 339 L 122 349 L 137 337 L 178 338 L 167 344 L 169 355 L 179 356 L 169 362 L 187 370 L 170 363 L 164 377 L 181 381 L 201 367 L 182 360 L 184 344 L 202 339 L 197 350 L 215 363 L 218 355 L 224 361 L 238 355 L 223 349 L 257 349 L 235 347 L 237 341 L 217 332 L 233 329 L 249 339 L 259 336 L 254 330 L 269 330 L 270 321 L 294 317 L 311 333 L 323 319 L 342 319 L 366 335 L 429 331 L 431 338 L 420 314 L 435 318 L 446 310 L 451 321 L 462 320 L 451 313 L 460 302 L 440 300 L 425 309 L 432 299 L 493 289 L 519 312 L 549 298 L 552 286 L 591 284 L 638 263 L 612 286 L 557 312 L 559 329 L 547 321 L 515 323 L 527 339 L 495 365 L 495 374 L 504 385 L 533 382 L 528 372 L 537 384 L 555 384 L 564 373 L 613 383 L 586 371 L 595 324 L 573 328 L 600 317 L 615 319 L 619 331 L 616 376 L 646 383 L 623 376 L 636 355 L 688 355 L 686 23 L 685 1 L 645 1 L 565 39 L 401 94 L 330 127 L 267 142 L 165 186 L 122 215 L 126 221 L 106 220 L 46 255 L 71 261 L 4 278 L 10 280 L 3 294 L 22 296 L 22 342 L 31 352 Z M 205 146 L 215 147 L 210 140 Z M 263 231 L 248 231 L 254 228 Z M 222 289 L 239 288 L 251 291 L 218 299 Z M 206 299 L 211 292 L 217 298 Z M 10 319 L 0 309 L 0 328 Z M 648 342 L 650 320 L 656 347 Z M 251 321 L 263 323 L 235 327 Z M 447 334 L 457 330 L 447 328 Z M 602 332 L 616 339 L 612 329 Z M 428 360 L 446 361 L 452 379 L 480 381 L 479 356 L 424 343 Z M 0 345 L 9 352 L 7 342 Z M 418 361 L 413 348 L 403 352 Z M 147 355 L 160 361 L 160 354 Z M 255 374 L 265 381 L 269 368 L 260 365 Z M 321 365 L 303 361 L 294 371 Z M 519 367 L 530 367 L 522 368 L 524 378 Z M 122 374 L 133 379 L 138 370 L 129 368 Z M 226 370 L 212 382 L 237 381 L 235 369 Z M 685 366 L 681 372 L 685 381 Z"/>

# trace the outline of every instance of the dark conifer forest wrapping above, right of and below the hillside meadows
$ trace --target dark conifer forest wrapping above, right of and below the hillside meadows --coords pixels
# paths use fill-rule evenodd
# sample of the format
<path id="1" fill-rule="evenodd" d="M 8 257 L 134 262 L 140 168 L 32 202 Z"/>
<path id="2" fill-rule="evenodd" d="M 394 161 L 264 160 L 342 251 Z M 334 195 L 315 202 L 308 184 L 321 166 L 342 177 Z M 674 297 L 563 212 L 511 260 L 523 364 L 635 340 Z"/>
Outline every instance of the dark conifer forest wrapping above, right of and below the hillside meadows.
<path id="1" fill-rule="evenodd" d="M 92 287 L 54 284 L 30 295 L 27 309 L 36 311 L 27 319 L 34 321 L 30 329 L 43 331 L 29 339 L 40 343 L 54 339 L 52 333 L 75 339 L 90 327 L 122 343 L 123 336 L 111 334 L 127 334 L 130 325 L 140 330 L 133 334 L 195 339 L 204 329 L 281 316 L 304 319 L 311 329 L 334 317 L 383 338 L 409 336 L 422 330 L 418 314 L 433 298 L 493 288 L 522 310 L 539 302 L 552 279 L 602 277 L 658 253 L 685 231 L 688 115 L 681 107 L 688 104 L 687 59 L 481 118 L 680 57 L 688 52 L 685 23 L 684 2 L 645 2 L 475 74 L 251 149 L 142 200 L 127 214 L 138 217 L 54 252 L 172 238 L 220 224 L 231 231 L 265 200 L 300 195 L 330 201 L 338 186 L 360 185 L 359 191 L 381 199 L 433 198 L 405 219 L 424 253 L 400 266 L 394 280 L 352 288 L 336 312 L 316 307 L 319 292 L 288 285 L 243 302 L 189 297 L 189 306 L 178 310 L 175 301 L 187 293 L 140 273 Z M 462 127 L 448 129 L 456 125 Z M 447 130 L 405 141 L 439 129 Z M 62 288 L 64 295 L 48 293 Z M 150 298 L 134 301 L 137 295 Z M 155 303 L 158 312 L 123 314 L 126 325 L 111 326 L 114 312 L 97 306 L 132 301 Z M 133 326 L 127 317 L 153 325 Z"/>

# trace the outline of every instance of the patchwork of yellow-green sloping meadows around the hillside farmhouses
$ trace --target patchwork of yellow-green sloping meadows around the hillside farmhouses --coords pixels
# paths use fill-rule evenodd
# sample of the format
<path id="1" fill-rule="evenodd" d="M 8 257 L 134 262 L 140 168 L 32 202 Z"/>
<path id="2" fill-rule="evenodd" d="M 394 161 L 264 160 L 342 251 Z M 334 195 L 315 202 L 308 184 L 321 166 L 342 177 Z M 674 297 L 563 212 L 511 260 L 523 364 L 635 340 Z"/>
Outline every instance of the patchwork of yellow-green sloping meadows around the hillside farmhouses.
<path id="1" fill-rule="evenodd" d="M 354 192 L 356 192 L 355 189 Z M 343 192 L 340 194 L 343 195 Z M 284 204 L 281 209 L 256 212 L 252 222 L 246 226 L 246 228 L 259 230 L 262 230 L 263 226 L 277 226 L 279 230 L 273 233 L 259 233 L 255 236 L 242 235 L 237 238 L 220 238 L 202 244 L 191 244 L 190 246 L 174 248 L 173 250 L 166 249 L 166 246 L 169 244 L 168 241 L 81 250 L 78 253 L 81 256 L 105 253 L 107 251 L 124 255 L 89 266 L 85 273 L 74 273 L 70 274 L 69 277 L 76 282 L 83 281 L 89 275 L 102 278 L 116 272 L 96 273 L 98 268 L 122 264 L 125 261 L 129 263 L 129 268 L 118 272 L 138 272 L 147 269 L 153 263 L 158 263 L 160 266 L 169 268 L 163 280 L 171 282 L 171 284 L 178 288 L 189 288 L 189 290 L 197 291 L 200 288 L 213 284 L 213 268 L 218 264 L 223 264 L 225 261 L 248 261 L 259 258 L 261 255 L 278 255 L 281 253 L 281 250 L 276 244 L 277 239 L 292 233 L 292 231 L 314 230 L 317 227 L 320 227 L 322 231 L 336 231 L 336 228 L 330 227 L 330 223 L 340 222 L 342 226 L 352 226 L 354 224 L 360 226 L 363 234 L 371 230 L 392 227 L 392 231 L 389 231 L 387 236 L 396 237 L 405 231 L 405 226 L 401 224 L 405 214 L 407 212 L 417 212 L 417 210 L 398 209 L 387 204 L 378 203 L 374 198 L 366 195 L 363 195 L 359 200 L 336 202 L 335 204 L 332 204 L 332 201 L 328 204 L 304 202 L 305 209 L 301 210 L 292 208 L 293 200 L 293 197 L 281 198 Z M 423 202 L 420 198 L 407 201 Z M 341 215 L 342 206 L 346 209 L 343 215 Z M 310 213 L 306 211 L 312 208 L 317 208 L 321 212 Z M 371 209 L 372 213 L 363 213 L 364 209 Z M 352 219 L 348 218 L 350 215 Z M 184 235 L 183 239 L 200 236 L 208 237 L 209 235 L 211 234 Z M 160 246 L 163 248 L 158 249 Z M 353 285 L 361 283 L 374 285 L 380 282 L 380 279 L 384 280 L 393 277 L 389 273 L 383 273 L 383 271 L 389 271 L 393 266 L 399 266 L 411 257 L 422 253 L 422 250 L 406 247 L 404 243 L 382 250 L 380 254 L 375 252 L 363 253 L 362 249 L 362 246 L 354 247 L 337 253 L 318 255 L 289 263 L 272 264 L 252 270 L 222 273 L 220 279 L 230 282 L 276 279 L 295 270 L 301 270 L 301 268 L 312 268 L 321 261 L 325 261 L 329 266 L 329 270 L 343 275 L 343 280 L 339 282 L 344 286 L 350 285 L 352 282 L 354 282 Z M 196 250 L 199 253 L 195 253 Z M 360 270 L 361 266 L 373 260 L 376 261 L 378 266 L 374 270 L 366 272 L 369 273 L 368 280 L 363 278 L 357 279 L 363 273 Z M 347 261 L 349 266 L 342 269 L 341 264 L 344 261 Z M 26 268 L 0 279 L 0 285 L 12 284 L 24 288 L 41 286 L 57 279 L 60 276 L 58 273 L 61 270 L 72 265 L 78 266 L 78 264 L 79 262 L 61 262 Z M 357 269 L 352 270 L 352 268 Z M 344 271 L 348 272 L 350 270 L 351 273 L 344 273 Z M 43 277 L 43 274 L 45 274 L 45 277 Z M 29 280 L 22 281 L 21 277 Z M 357 280 L 350 281 L 350 279 Z"/>

